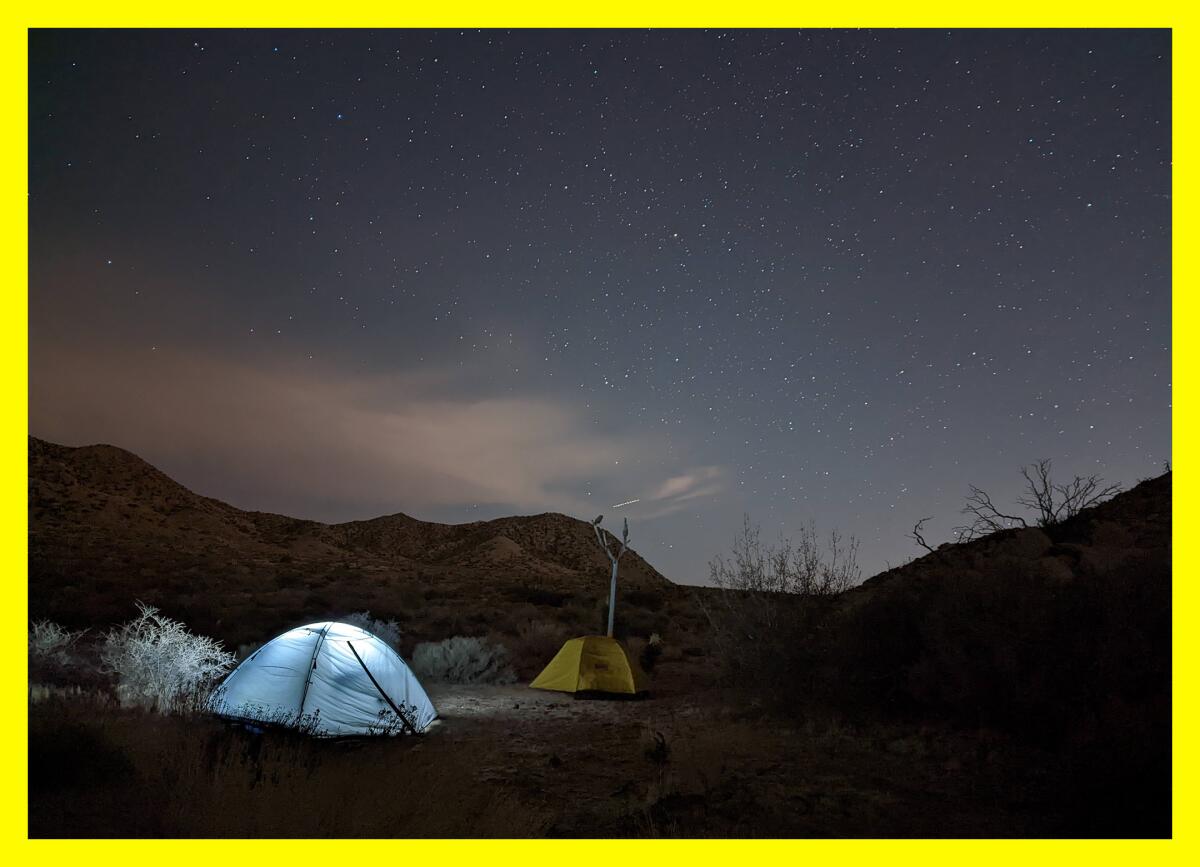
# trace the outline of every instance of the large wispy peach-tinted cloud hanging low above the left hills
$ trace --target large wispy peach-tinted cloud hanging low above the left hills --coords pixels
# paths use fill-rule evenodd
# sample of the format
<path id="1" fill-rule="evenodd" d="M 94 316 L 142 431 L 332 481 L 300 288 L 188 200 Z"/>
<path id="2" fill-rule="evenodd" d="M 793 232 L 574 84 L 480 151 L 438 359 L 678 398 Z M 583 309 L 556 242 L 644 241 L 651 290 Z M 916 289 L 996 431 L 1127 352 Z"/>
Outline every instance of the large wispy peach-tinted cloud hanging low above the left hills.
<path id="1" fill-rule="evenodd" d="M 582 408 L 452 396 L 451 379 L 60 352 L 32 367 L 30 425 L 132 449 L 240 506 L 325 519 L 476 503 L 590 513 L 588 489 L 631 485 L 665 455 L 642 434 L 598 432 Z"/>

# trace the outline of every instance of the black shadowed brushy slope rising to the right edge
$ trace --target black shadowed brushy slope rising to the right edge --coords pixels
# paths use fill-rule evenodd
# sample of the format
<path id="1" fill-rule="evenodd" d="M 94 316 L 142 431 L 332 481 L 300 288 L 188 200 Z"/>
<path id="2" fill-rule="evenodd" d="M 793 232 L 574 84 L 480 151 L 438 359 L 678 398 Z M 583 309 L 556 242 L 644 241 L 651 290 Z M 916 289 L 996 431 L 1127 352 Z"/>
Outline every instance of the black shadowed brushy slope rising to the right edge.
<path id="1" fill-rule="evenodd" d="M 1166 473 L 846 592 L 726 592 L 710 603 L 725 681 L 785 718 L 996 733 L 1054 757 L 1048 790 L 1074 805 L 1061 832 L 1169 836 L 1170 502 Z"/>

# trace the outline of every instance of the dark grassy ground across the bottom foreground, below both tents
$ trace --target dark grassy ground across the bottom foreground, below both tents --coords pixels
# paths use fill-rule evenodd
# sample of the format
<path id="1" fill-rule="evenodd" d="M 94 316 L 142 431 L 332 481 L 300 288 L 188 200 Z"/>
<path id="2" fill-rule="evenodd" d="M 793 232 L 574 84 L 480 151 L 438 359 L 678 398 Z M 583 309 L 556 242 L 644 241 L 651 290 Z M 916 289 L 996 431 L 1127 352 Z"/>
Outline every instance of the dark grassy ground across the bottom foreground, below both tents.
<path id="1" fill-rule="evenodd" d="M 31 707 L 32 837 L 1165 833 L 1145 785 L 995 729 L 781 716 L 752 694 L 434 687 L 420 739 L 252 735 L 91 698 Z M 1128 764 L 1128 757 L 1103 757 Z M 1104 782 L 1114 782 L 1105 776 Z M 1103 808 L 1103 812 L 1097 809 Z M 1114 824 L 1115 823 L 1115 824 Z"/>

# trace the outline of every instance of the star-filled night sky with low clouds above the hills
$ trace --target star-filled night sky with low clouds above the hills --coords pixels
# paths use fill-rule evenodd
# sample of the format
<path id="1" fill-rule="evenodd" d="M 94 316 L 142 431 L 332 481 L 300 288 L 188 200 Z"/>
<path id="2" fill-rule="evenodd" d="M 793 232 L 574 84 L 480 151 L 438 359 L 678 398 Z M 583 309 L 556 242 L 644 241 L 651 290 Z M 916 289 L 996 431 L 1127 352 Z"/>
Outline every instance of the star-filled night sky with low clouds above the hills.
<path id="1" fill-rule="evenodd" d="M 948 540 L 1170 458 L 1168 31 L 35 31 L 30 430 L 325 521 Z M 630 500 L 640 502 L 613 509 Z"/>

